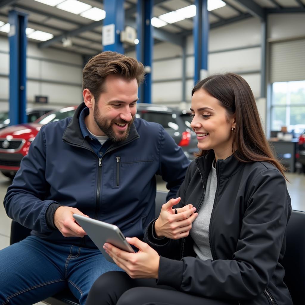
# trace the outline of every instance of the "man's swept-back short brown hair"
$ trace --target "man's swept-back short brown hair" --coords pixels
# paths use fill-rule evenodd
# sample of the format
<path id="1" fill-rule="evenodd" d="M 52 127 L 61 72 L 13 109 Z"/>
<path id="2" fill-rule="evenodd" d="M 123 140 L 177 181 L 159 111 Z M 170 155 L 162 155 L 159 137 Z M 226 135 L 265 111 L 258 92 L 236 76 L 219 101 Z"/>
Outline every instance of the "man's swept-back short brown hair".
<path id="1" fill-rule="evenodd" d="M 89 89 L 95 101 L 105 90 L 104 83 L 108 75 L 115 75 L 125 80 L 136 79 L 138 86 L 144 80 L 144 66 L 132 57 L 117 52 L 106 51 L 89 59 L 83 70 L 83 90 Z"/>

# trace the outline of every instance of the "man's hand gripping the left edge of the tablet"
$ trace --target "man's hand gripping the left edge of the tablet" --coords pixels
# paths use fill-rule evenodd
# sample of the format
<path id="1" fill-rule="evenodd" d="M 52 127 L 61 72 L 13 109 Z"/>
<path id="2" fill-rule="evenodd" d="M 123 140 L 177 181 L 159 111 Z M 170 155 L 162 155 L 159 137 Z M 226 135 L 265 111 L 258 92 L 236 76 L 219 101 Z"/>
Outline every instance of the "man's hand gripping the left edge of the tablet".
<path id="1" fill-rule="evenodd" d="M 84 237 L 86 232 L 75 222 L 73 214 L 86 216 L 70 206 L 59 206 L 54 213 L 54 224 L 64 237 Z"/>

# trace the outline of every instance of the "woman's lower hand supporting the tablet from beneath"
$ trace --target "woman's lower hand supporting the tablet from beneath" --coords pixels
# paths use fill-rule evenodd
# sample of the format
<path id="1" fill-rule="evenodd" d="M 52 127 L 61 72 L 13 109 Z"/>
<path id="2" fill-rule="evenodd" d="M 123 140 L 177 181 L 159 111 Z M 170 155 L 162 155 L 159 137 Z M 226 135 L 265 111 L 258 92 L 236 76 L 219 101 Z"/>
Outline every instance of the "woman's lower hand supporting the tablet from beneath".
<path id="1" fill-rule="evenodd" d="M 136 246 L 139 251 L 137 253 L 126 252 L 109 243 L 105 243 L 103 248 L 131 278 L 158 278 L 159 254 L 136 237 L 127 237 L 126 240 Z"/>

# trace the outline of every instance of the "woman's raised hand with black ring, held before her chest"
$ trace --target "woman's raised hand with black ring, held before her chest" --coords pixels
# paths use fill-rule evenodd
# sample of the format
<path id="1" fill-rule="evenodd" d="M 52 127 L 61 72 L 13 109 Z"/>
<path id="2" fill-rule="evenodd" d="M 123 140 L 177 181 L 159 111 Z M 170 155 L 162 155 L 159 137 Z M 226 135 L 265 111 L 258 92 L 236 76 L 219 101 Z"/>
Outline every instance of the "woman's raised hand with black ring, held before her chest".
<path id="1" fill-rule="evenodd" d="M 155 222 L 155 233 L 157 237 L 167 237 L 170 239 L 180 239 L 188 236 L 192 228 L 192 222 L 198 216 L 195 213 L 196 208 L 192 204 L 188 204 L 179 209 L 173 209 L 173 206 L 179 203 L 180 197 L 170 199 L 164 203 L 160 212 L 160 216 Z M 177 214 L 175 214 L 177 210 Z"/>

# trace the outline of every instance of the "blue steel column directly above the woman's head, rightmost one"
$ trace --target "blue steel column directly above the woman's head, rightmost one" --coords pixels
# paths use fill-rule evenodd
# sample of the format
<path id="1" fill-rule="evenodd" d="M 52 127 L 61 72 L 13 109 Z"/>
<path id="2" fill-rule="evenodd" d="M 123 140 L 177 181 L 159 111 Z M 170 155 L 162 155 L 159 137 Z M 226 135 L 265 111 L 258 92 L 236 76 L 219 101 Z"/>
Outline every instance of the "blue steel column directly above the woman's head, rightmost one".
<path id="1" fill-rule="evenodd" d="M 195 69 L 194 83 L 205 78 L 208 74 L 208 38 L 209 16 L 207 0 L 196 0 L 196 16 L 194 17 L 194 53 Z"/>

